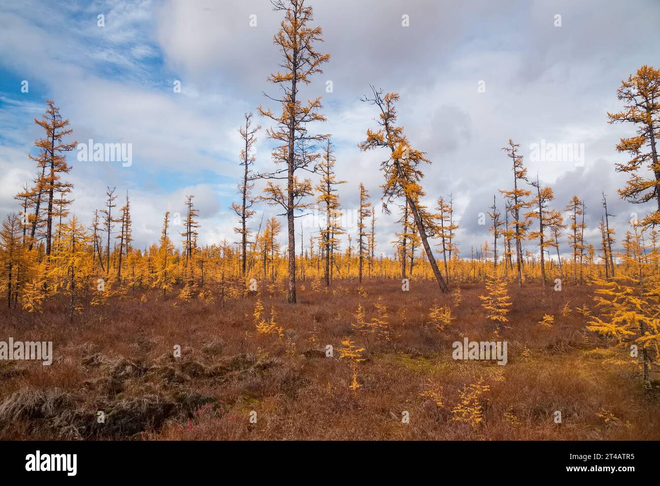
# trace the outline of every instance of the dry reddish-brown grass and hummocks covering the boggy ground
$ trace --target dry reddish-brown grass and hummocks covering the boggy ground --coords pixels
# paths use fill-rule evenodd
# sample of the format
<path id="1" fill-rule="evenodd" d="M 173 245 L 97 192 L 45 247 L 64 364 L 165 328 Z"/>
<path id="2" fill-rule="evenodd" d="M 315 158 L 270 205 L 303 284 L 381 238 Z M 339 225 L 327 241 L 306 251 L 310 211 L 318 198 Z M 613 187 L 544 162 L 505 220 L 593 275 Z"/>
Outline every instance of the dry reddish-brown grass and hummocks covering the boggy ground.
<path id="1" fill-rule="evenodd" d="M 462 286 L 456 319 L 442 332 L 428 322 L 434 300 L 452 305 L 433 282 L 335 282 L 333 296 L 302 282 L 299 304 L 277 294 L 284 337 L 257 335 L 255 296 L 219 305 L 126 300 L 88 310 L 71 324 L 60 304 L 41 315 L 0 313 L 0 341 L 53 341 L 51 366 L 0 361 L 0 438 L 163 439 L 515 439 L 651 440 L 660 438 L 657 397 L 645 399 L 624 350 L 584 330 L 566 302 L 591 306 L 591 288 L 554 292 L 510 286 L 510 322 L 494 335 L 480 307 L 480 284 Z M 362 303 L 374 315 L 382 296 L 393 339 L 366 341 L 352 332 Z M 401 311 L 406 309 L 405 325 Z M 538 325 L 544 314 L 555 325 Z M 339 360 L 341 339 L 365 346 L 352 373 Z M 508 364 L 455 361 L 451 343 L 508 341 Z M 175 344 L 182 358 L 174 358 Z M 324 354 L 326 344 L 335 356 Z M 451 411 L 467 385 L 483 379 L 483 421 L 471 426 Z M 420 393 L 441 386 L 442 407 Z M 96 421 L 97 411 L 106 423 Z M 249 413 L 257 412 L 257 423 Z M 408 411 L 410 423 L 402 423 Z M 554 423 L 554 411 L 562 423 Z M 611 413 L 615 419 L 605 421 Z"/>

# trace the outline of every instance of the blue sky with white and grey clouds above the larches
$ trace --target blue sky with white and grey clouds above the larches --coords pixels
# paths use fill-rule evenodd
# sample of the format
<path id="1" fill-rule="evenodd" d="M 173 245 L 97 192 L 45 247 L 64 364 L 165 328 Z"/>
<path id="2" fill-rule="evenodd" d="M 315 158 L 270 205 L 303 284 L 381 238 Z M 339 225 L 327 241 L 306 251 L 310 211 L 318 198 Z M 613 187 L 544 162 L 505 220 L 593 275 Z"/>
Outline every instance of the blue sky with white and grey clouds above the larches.
<path id="1" fill-rule="evenodd" d="M 399 123 L 431 161 L 424 203 L 434 208 L 438 197 L 453 197 L 463 256 L 492 240 L 479 220 L 494 195 L 504 207 L 498 190 L 513 185 L 502 151 L 509 139 L 520 144 L 529 179 L 554 190 L 554 208 L 563 210 L 574 194 L 585 200 L 585 239 L 596 247 L 601 192 L 616 215 L 618 239 L 634 214 L 651 210 L 618 198 L 626 177 L 614 164 L 627 156 L 615 145 L 634 128 L 608 124 L 607 112 L 622 109 L 616 99 L 622 79 L 644 64 L 660 65 L 660 2 L 306 3 L 323 28 L 317 48 L 331 54 L 304 91 L 322 97 L 327 118 L 309 128 L 332 134 L 336 172 L 347 181 L 339 187 L 345 226 L 353 235 L 358 185 L 369 190 L 378 253 L 393 254 L 399 216 L 380 210 L 387 154 L 358 149 L 366 130 L 376 128 L 374 106 L 360 101 L 370 85 L 401 95 Z M 34 141 L 43 135 L 34 118 L 52 99 L 70 120 L 67 142 L 131 144 L 128 167 L 69 153 L 71 210 L 82 222 L 103 206 L 107 187 L 117 188 L 118 200 L 128 191 L 134 243 L 145 247 L 157 241 L 164 212 L 184 214 L 185 196 L 194 194 L 199 242 L 238 241 L 230 206 L 239 201 L 238 128 L 246 112 L 263 126 L 255 171 L 273 169 L 269 120 L 256 108 L 278 109 L 266 95 L 279 93 L 267 82 L 281 62 L 273 45 L 279 22 L 267 0 L 0 1 L 0 217 L 18 212 L 13 196 L 34 178 L 28 154 L 36 155 Z M 573 157 L 539 157 L 535 150 L 568 143 L 577 149 Z M 257 205 L 250 226 L 257 229 L 262 214 L 265 221 L 280 213 Z M 306 248 L 310 234 L 318 234 L 317 220 L 297 223 Z M 570 251 L 566 234 L 560 245 Z M 538 250 L 533 242 L 525 248 Z"/>

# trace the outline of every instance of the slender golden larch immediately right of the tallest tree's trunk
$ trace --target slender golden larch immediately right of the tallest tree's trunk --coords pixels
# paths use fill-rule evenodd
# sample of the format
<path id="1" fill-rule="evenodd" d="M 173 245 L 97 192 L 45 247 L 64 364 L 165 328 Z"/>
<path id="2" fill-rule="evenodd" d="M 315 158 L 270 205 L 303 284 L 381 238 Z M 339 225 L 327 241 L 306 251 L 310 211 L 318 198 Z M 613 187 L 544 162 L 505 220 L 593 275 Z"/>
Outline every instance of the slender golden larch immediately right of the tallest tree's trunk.
<path id="1" fill-rule="evenodd" d="M 321 173 L 321 180 L 315 186 L 319 195 L 316 198 L 319 209 L 325 213 L 325 228 L 321 229 L 321 242 L 325 247 L 325 286 L 330 285 L 331 277 L 331 261 L 333 258 L 334 249 L 339 244 L 337 236 L 343 234 L 343 228 L 339 225 L 338 220 L 341 216 L 339 212 L 339 196 L 337 195 L 337 187 L 339 184 L 345 184 L 346 181 L 337 181 L 335 175 L 335 156 L 332 149 L 330 139 L 327 140 L 325 146 L 325 153 L 319 163 L 319 172 Z"/>

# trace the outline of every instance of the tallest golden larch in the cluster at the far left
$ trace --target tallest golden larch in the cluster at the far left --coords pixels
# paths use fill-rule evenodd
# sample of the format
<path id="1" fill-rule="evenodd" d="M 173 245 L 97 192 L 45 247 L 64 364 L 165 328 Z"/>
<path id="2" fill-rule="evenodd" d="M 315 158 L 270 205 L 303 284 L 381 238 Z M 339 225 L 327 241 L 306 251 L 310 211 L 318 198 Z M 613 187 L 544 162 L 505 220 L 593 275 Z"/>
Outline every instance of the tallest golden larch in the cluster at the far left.
<path id="1" fill-rule="evenodd" d="M 34 119 L 34 123 L 38 124 L 46 131 L 46 137 L 37 140 L 34 145 L 40 149 L 38 157 L 30 158 L 38 164 L 41 169 L 40 180 L 36 182 L 36 190 L 43 192 L 46 197 L 46 217 L 45 220 L 45 235 L 46 238 L 46 255 L 51 254 L 51 243 L 53 237 L 53 219 L 57 217 L 55 198 L 57 194 L 66 194 L 71 190 L 73 184 L 61 180 L 63 174 L 68 174 L 71 167 L 67 164 L 66 153 L 74 149 L 77 142 L 65 143 L 63 138 L 71 134 L 72 130 L 66 128 L 69 125 L 69 120 L 62 118 L 59 113 L 59 108 L 55 106 L 55 102 L 47 100 L 48 109 L 42 115 L 41 120 Z M 41 200 L 39 206 L 41 204 Z M 39 206 L 36 207 L 35 223 L 38 224 Z M 33 235 L 34 236 L 34 235 Z"/>

